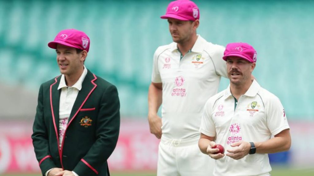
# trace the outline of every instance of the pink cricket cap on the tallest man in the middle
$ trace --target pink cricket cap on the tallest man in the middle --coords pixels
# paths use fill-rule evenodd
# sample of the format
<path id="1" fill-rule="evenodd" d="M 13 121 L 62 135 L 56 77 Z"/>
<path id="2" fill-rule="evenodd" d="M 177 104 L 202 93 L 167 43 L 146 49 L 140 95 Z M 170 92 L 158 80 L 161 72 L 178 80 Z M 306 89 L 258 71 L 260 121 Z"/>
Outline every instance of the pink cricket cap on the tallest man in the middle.
<path id="1" fill-rule="evenodd" d="M 160 18 L 175 18 L 182 21 L 195 21 L 199 19 L 199 9 L 194 2 L 189 0 L 172 1 L 167 7 L 166 14 Z"/>

